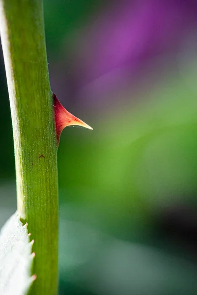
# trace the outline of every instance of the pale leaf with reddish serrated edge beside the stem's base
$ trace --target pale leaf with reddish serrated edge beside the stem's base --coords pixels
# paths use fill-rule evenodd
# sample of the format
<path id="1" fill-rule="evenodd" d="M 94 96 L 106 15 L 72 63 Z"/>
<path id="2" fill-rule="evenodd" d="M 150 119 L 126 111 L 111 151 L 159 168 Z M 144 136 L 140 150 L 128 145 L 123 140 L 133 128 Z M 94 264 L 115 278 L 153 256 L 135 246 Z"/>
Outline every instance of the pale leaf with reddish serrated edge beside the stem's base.
<path id="1" fill-rule="evenodd" d="M 31 276 L 35 253 L 27 224 L 13 214 L 0 231 L 0 294 L 26 295 L 36 276 Z"/>

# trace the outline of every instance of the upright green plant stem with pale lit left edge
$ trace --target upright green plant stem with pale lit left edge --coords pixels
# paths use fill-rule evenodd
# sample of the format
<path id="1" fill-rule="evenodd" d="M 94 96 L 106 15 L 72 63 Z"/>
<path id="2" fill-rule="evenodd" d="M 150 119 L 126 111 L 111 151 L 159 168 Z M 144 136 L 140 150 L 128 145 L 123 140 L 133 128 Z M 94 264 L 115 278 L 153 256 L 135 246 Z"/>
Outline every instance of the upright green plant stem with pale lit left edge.
<path id="1" fill-rule="evenodd" d="M 57 141 L 42 0 L 0 0 L 0 34 L 11 106 L 17 208 L 35 240 L 31 294 L 58 286 Z"/>

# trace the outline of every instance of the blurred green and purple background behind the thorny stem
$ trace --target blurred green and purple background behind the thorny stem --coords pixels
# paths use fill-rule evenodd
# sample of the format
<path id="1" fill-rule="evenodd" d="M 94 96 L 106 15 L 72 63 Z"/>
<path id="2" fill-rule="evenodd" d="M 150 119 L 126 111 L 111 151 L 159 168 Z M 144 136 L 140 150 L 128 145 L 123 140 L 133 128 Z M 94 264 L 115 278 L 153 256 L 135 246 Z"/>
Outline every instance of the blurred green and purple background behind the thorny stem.
<path id="1" fill-rule="evenodd" d="M 197 1 L 45 0 L 60 295 L 197 294 Z M 39 62 L 39 57 L 37 59 Z M 0 48 L 0 227 L 16 210 Z"/>

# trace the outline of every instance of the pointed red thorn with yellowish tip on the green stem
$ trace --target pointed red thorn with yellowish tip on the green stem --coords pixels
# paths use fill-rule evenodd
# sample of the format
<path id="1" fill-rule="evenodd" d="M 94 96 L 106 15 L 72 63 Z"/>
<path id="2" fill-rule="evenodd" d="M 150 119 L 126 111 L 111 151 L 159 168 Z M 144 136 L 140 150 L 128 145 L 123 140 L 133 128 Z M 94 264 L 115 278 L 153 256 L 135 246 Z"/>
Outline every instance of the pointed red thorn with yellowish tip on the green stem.
<path id="1" fill-rule="evenodd" d="M 54 103 L 54 112 L 55 112 L 55 125 L 56 125 L 56 134 L 57 141 L 59 143 L 60 135 L 62 130 L 67 126 L 81 126 L 93 130 L 92 127 L 84 123 L 82 120 L 78 119 L 61 105 L 56 95 L 53 93 L 53 103 Z"/>

